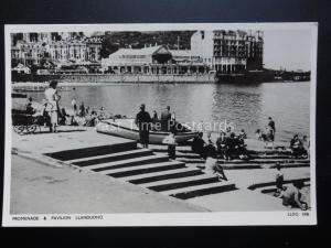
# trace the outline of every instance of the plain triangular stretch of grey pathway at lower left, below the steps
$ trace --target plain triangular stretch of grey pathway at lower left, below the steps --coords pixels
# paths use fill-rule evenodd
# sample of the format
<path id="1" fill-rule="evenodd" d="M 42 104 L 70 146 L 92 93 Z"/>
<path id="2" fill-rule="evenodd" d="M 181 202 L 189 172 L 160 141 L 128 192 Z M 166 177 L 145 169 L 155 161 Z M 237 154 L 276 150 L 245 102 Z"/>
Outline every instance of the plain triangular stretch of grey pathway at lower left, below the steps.
<path id="1" fill-rule="evenodd" d="M 205 212 L 106 175 L 12 157 L 11 214 Z"/>

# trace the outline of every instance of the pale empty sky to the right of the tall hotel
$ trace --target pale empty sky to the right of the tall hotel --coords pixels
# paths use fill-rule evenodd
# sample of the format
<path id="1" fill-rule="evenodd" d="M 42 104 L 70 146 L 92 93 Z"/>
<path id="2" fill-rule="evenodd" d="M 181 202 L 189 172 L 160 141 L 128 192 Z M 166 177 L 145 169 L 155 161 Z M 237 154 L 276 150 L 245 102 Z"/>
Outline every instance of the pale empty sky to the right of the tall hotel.
<path id="1" fill-rule="evenodd" d="M 269 30 L 264 32 L 266 68 L 310 71 L 311 30 Z"/>

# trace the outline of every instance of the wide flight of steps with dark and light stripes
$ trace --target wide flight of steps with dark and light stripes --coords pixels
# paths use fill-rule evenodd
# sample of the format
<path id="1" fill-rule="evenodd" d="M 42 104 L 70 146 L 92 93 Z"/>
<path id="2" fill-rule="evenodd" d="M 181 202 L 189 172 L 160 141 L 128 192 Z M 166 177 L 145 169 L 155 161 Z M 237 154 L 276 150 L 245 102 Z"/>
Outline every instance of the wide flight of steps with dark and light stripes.
<path id="1" fill-rule="evenodd" d="M 188 168 L 184 162 L 170 160 L 164 153 L 138 149 L 136 142 L 74 149 L 46 155 L 183 200 L 235 190 L 234 183 L 220 182 L 217 176 L 205 174 L 196 168 Z"/>

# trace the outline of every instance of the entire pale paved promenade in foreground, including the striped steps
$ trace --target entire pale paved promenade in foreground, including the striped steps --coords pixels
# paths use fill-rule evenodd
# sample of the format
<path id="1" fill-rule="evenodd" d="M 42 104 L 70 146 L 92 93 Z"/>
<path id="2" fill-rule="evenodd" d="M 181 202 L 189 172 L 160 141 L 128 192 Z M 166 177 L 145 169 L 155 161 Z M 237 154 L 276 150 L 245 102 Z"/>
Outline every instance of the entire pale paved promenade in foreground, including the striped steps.
<path id="1" fill-rule="evenodd" d="M 94 128 L 61 127 L 58 130 L 58 133 L 42 130 L 35 134 L 12 134 L 12 152 L 21 157 L 14 155 L 12 160 L 13 212 L 23 211 L 22 203 L 28 201 L 26 195 L 33 195 L 32 188 L 42 188 L 50 197 L 54 194 L 58 201 L 63 197 L 63 201 L 67 201 L 67 208 L 64 205 L 58 209 L 71 213 L 90 213 L 94 209 L 102 213 L 163 212 L 168 204 L 169 212 L 280 211 L 286 209 L 280 200 L 261 193 L 261 188 L 273 187 L 269 184 L 275 181 L 275 161 L 281 160 L 289 182 L 309 181 L 310 177 L 309 161 L 291 160 L 288 151 L 266 150 L 254 140 L 247 142 L 248 149 L 256 152 L 252 161 L 218 161 L 225 168 L 229 179 L 227 182 L 204 174 L 200 169 L 202 160 L 189 147 L 179 147 L 178 160 L 171 161 L 164 154 L 163 145 L 151 145 L 151 150 L 139 149 L 135 141 L 100 134 Z M 22 157 L 30 159 L 30 162 L 23 162 Z M 40 172 L 40 176 L 34 176 Z M 53 173 L 61 176 L 56 179 L 52 176 Z M 47 174 L 51 176 L 47 177 Z M 261 185 L 248 190 L 255 184 Z M 136 201 L 139 195 L 148 200 Z M 89 201 L 95 197 L 99 206 L 89 208 Z M 137 204 L 121 207 L 125 201 Z M 169 203 L 164 204 L 167 201 Z M 31 204 L 28 209 L 41 209 L 36 206 L 39 201 L 28 203 Z M 51 205 L 45 207 L 49 211 L 55 208 Z"/>

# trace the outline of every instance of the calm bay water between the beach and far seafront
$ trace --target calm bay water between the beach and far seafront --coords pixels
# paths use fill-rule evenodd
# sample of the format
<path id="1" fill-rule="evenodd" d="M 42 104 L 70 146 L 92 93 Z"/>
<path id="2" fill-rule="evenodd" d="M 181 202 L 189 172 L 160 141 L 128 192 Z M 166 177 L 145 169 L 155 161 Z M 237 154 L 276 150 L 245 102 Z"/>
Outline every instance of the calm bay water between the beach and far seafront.
<path id="1" fill-rule="evenodd" d="M 61 105 L 71 108 L 71 100 L 108 112 L 136 116 L 140 104 L 147 110 L 160 111 L 171 106 L 177 119 L 186 121 L 233 122 L 248 136 L 265 127 L 271 116 L 276 121 L 276 140 L 288 141 L 293 133 L 309 134 L 309 83 L 267 83 L 259 85 L 215 84 L 114 84 L 82 86 L 61 91 Z M 43 93 L 29 94 L 36 100 Z"/>

